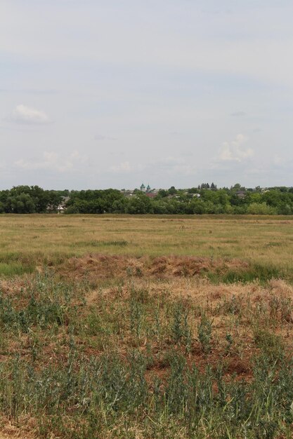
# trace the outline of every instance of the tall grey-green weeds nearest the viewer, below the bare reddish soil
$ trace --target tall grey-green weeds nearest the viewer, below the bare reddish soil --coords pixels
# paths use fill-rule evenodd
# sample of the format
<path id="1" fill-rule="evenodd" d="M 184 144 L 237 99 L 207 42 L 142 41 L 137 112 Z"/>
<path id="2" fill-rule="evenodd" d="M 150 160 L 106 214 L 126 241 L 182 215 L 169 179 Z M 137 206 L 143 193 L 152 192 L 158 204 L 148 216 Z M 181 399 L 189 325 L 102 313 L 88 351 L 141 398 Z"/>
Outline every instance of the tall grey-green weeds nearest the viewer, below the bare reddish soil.
<path id="1" fill-rule="evenodd" d="M 291 363 L 277 368 L 256 358 L 249 384 L 226 383 L 223 365 L 199 372 L 171 351 L 163 383 L 145 380 L 149 359 L 136 350 L 124 361 L 108 353 L 84 365 L 72 344 L 66 360 L 41 372 L 19 358 L 2 365 L 1 411 L 12 419 L 37 415 L 39 437 L 290 437 Z"/>

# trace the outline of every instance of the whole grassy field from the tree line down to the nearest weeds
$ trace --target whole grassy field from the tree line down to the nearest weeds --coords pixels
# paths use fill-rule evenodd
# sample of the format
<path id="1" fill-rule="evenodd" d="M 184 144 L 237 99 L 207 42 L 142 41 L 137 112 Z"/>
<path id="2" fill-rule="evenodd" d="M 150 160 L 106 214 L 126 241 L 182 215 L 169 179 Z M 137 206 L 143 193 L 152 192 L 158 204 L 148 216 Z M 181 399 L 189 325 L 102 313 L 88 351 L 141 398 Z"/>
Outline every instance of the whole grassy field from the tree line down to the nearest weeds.
<path id="1" fill-rule="evenodd" d="M 0 216 L 0 438 L 292 438 L 291 217 Z"/>

